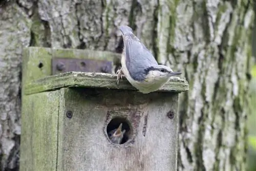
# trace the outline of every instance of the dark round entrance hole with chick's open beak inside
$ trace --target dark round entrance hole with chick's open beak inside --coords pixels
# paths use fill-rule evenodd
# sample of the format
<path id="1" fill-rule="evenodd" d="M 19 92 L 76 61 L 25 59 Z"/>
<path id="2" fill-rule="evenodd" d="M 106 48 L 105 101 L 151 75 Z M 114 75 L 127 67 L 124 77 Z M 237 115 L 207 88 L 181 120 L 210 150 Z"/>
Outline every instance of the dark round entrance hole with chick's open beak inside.
<path id="1" fill-rule="evenodd" d="M 116 117 L 116 118 L 113 118 L 109 122 L 109 124 L 106 126 L 106 133 L 108 133 L 110 141 L 116 144 L 119 144 L 119 143 L 117 143 L 117 141 L 113 139 L 112 135 L 115 132 L 115 130 L 118 129 L 121 123 L 122 123 L 122 133 L 125 130 L 123 137 L 120 141 L 120 144 L 123 144 L 127 142 L 132 136 L 132 129 L 131 129 L 130 122 L 126 118 Z"/>

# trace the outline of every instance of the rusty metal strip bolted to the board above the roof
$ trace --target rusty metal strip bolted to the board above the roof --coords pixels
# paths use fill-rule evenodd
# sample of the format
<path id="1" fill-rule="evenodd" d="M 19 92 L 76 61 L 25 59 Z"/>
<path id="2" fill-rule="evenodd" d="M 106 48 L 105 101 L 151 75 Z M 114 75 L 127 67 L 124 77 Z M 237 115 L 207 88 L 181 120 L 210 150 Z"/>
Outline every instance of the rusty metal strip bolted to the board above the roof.
<path id="1" fill-rule="evenodd" d="M 95 59 L 52 58 L 52 75 L 70 71 L 111 73 L 112 62 Z"/>

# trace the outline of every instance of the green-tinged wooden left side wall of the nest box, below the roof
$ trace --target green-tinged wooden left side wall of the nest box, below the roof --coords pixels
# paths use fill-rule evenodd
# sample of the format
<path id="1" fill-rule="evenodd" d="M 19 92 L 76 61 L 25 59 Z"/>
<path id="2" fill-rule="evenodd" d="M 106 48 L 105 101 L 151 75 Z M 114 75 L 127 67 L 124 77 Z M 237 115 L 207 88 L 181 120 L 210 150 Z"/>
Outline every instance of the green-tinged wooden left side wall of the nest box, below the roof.
<path id="1" fill-rule="evenodd" d="M 59 91 L 23 96 L 20 170 L 55 170 Z"/>

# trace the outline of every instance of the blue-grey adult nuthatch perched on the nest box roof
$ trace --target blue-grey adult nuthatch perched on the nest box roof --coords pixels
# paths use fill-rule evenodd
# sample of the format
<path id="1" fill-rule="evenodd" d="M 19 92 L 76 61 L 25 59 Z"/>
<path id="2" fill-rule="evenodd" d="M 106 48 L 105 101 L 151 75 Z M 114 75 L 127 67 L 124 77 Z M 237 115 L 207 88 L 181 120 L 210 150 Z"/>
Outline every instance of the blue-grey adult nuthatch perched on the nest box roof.
<path id="1" fill-rule="evenodd" d="M 123 37 L 123 53 L 121 69 L 117 71 L 117 83 L 122 75 L 139 92 L 147 94 L 157 91 L 171 76 L 180 75 L 167 66 L 158 65 L 152 53 L 142 44 L 133 30 L 128 26 L 120 26 Z"/>

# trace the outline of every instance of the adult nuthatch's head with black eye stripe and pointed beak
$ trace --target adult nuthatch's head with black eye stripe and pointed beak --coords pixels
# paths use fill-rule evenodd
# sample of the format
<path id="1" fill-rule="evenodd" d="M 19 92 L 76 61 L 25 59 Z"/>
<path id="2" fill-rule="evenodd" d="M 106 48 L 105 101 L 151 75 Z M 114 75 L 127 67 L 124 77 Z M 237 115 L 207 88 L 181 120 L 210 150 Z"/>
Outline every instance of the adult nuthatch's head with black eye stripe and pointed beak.
<path id="1" fill-rule="evenodd" d="M 147 80 L 166 80 L 169 79 L 170 76 L 181 74 L 180 72 L 173 72 L 172 69 L 164 65 L 147 68 L 145 72 Z"/>

